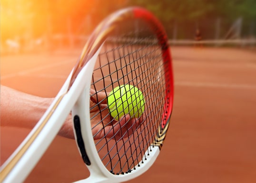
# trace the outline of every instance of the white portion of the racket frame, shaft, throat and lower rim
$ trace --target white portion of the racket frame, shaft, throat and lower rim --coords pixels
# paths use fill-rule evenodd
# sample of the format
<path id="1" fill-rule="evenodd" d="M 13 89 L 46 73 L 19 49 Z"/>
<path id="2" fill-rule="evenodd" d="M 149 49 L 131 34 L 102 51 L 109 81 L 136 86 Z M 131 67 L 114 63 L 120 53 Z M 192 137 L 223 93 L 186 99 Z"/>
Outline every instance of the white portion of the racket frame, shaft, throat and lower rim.
<path id="1" fill-rule="evenodd" d="M 21 183 L 26 179 L 59 132 L 71 109 L 73 116 L 79 116 L 81 129 L 85 129 L 81 132 L 87 155 L 91 162 L 91 165 L 87 165 L 90 172 L 89 178 L 77 181 L 76 183 L 116 183 L 128 181 L 146 172 L 155 162 L 160 152 L 159 146 L 148 147 L 150 148 L 150 154 L 147 155 L 147 161 L 143 161 L 144 163 L 140 162 L 140 166 L 135 167 L 136 170 L 132 170 L 128 174 L 115 175 L 107 170 L 98 156 L 90 124 L 89 92 L 92 72 L 102 45 L 84 65 L 69 88 L 74 69 L 71 71 L 58 95 L 37 125 L 0 167 L 0 181 L 2 183 Z"/>

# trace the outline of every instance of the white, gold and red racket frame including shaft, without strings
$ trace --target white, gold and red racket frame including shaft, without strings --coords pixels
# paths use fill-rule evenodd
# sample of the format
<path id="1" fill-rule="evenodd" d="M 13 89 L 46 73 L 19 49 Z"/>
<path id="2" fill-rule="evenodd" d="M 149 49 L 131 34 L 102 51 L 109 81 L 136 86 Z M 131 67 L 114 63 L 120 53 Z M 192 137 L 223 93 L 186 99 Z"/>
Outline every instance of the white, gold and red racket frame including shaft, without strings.
<path id="1" fill-rule="evenodd" d="M 151 21 L 150 18 L 153 17 L 153 21 L 158 22 L 154 16 L 149 13 L 145 9 L 141 8 L 128 8 L 118 11 L 112 15 L 112 19 L 109 19 L 108 24 L 112 24 L 111 21 L 115 19 L 116 16 L 125 15 L 127 12 L 131 13 L 133 11 L 134 16 L 137 18 L 146 18 L 148 21 Z M 128 15 L 130 16 L 130 15 Z M 98 29 L 102 28 L 104 25 L 100 25 Z M 159 26 L 159 25 L 158 25 Z M 108 26 L 107 26 L 108 27 Z M 161 27 L 161 25 L 160 25 Z M 65 119 L 70 113 L 72 109 L 73 116 L 76 114 L 79 115 L 81 120 L 81 128 L 86 129 L 82 131 L 82 137 L 84 139 L 84 146 L 87 148 L 87 155 L 91 162 L 91 165 L 87 165 L 90 176 L 88 179 L 78 181 L 82 182 L 122 182 L 127 181 L 129 179 L 135 178 L 138 175 L 144 173 L 148 170 L 148 168 L 154 163 L 156 160 L 160 148 L 163 144 L 166 130 L 169 126 L 169 118 L 167 119 L 167 123 L 162 125 L 162 128 L 159 129 L 159 132 L 162 133 L 164 131 L 164 135 L 159 138 L 160 142 L 154 145 L 154 148 L 150 148 L 150 155 L 147 156 L 147 161 L 144 163 L 139 163 L 139 167 L 136 167 L 136 171 L 132 171 L 128 174 L 123 175 L 114 175 L 111 174 L 106 167 L 101 162 L 96 146 L 94 144 L 91 125 L 90 125 L 90 113 L 89 113 L 89 89 L 90 89 L 90 81 L 93 72 L 93 68 L 95 62 L 97 60 L 97 56 L 99 54 L 102 43 L 100 41 L 107 36 L 107 34 L 112 31 L 113 27 L 109 27 L 108 31 L 105 33 L 101 33 L 98 37 L 92 36 L 91 40 L 84 47 L 83 53 L 81 55 L 80 61 L 74 67 L 74 69 L 69 74 L 68 79 L 62 86 L 61 90 L 57 94 L 57 97 L 54 99 L 48 110 L 39 120 L 37 125 L 31 130 L 30 134 L 25 138 L 25 140 L 20 144 L 20 146 L 15 150 L 15 152 L 9 157 L 9 159 L 0 167 L 0 181 L 2 183 L 9 182 L 23 182 L 25 178 L 28 176 L 33 167 L 37 164 L 40 157 L 44 154 L 54 137 L 59 132 L 59 129 L 63 125 Z M 160 28 L 163 30 L 163 28 Z M 161 38 L 158 37 L 158 41 L 161 44 Z M 93 44 L 91 44 L 93 41 Z M 97 47 L 98 46 L 98 47 Z M 90 49 L 89 49 L 90 47 Z M 92 49 L 93 48 L 93 49 Z M 170 60 L 169 48 L 163 51 L 163 56 L 167 56 L 167 59 Z M 89 51 L 88 51 L 89 50 Z M 89 59 L 84 59 L 84 57 L 88 57 Z M 168 64 L 169 67 L 166 69 L 172 69 L 171 64 Z M 78 69 L 78 66 L 80 67 Z M 79 73 L 76 73 L 79 71 Z M 170 72 L 168 72 L 170 73 Z M 75 75 L 75 76 L 74 76 Z M 90 76 L 89 79 L 88 75 Z M 171 95 L 173 96 L 173 78 L 172 75 L 168 76 L 172 86 L 168 86 L 171 88 Z M 169 94 L 168 94 L 169 95 Z M 169 100 L 171 107 L 168 107 L 168 114 L 171 113 L 173 97 L 170 97 L 166 100 Z M 158 148 L 159 147 L 159 148 Z"/>

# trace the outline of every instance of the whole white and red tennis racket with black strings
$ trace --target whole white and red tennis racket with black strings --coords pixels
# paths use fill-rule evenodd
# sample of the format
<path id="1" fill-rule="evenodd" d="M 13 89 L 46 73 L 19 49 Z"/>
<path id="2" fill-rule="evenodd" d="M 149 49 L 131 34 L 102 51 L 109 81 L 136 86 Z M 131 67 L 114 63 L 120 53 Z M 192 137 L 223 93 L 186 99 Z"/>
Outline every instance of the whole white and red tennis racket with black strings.
<path id="1" fill-rule="evenodd" d="M 107 97 L 115 87 L 143 93 L 144 112 L 116 120 Z M 156 160 L 170 123 L 173 73 L 167 35 L 146 9 L 121 9 L 89 37 L 49 109 L 1 167 L 1 182 L 22 182 L 72 110 L 74 134 L 90 176 L 79 183 L 128 181 Z M 136 106 L 134 106 L 136 107 Z"/>

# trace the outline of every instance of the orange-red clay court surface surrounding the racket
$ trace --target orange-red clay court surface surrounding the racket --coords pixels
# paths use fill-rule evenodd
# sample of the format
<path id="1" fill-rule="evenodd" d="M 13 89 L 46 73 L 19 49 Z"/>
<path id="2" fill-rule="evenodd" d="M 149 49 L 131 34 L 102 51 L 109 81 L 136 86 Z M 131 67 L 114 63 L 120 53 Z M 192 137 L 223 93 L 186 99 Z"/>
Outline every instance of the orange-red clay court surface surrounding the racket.
<path id="1" fill-rule="evenodd" d="M 54 97 L 82 48 L 2 55 L 0 82 Z M 172 47 L 174 108 L 155 164 L 130 183 L 256 182 L 256 52 Z M 14 114 L 15 115 L 15 114 Z M 30 129 L 1 127 L 1 165 Z M 26 183 L 69 183 L 89 176 L 74 140 L 57 136 Z"/>

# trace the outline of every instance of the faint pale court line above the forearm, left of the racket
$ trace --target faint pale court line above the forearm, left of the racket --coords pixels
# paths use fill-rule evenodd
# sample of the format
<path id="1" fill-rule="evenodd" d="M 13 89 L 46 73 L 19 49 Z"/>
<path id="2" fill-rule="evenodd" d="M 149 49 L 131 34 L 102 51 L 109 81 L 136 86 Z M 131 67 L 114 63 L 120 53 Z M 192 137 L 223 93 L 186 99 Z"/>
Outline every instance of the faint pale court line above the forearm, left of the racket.
<path id="1" fill-rule="evenodd" d="M 71 63 L 71 62 L 74 62 L 74 61 L 67 60 L 67 61 L 61 61 L 61 62 L 57 62 L 57 63 L 55 62 L 53 64 L 48 64 L 48 65 L 44 65 L 44 66 L 40 66 L 40 67 L 35 67 L 35 68 L 32 68 L 32 69 L 23 70 L 23 71 L 20 71 L 20 72 L 17 72 L 17 73 L 10 73 L 10 74 L 7 74 L 7 75 L 2 75 L 0 79 L 4 80 L 4 79 L 9 79 L 9 78 L 12 78 L 12 77 L 16 77 L 16 76 L 29 75 L 30 73 L 34 73 L 34 72 L 37 72 L 37 71 L 41 71 L 41 70 L 44 70 L 44 69 L 56 67 L 56 66 Z M 71 68 L 70 68 L 70 71 L 71 71 Z M 68 76 L 66 76 L 66 77 L 68 77 Z"/>

